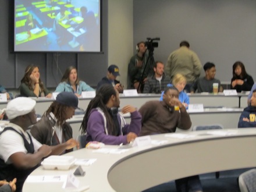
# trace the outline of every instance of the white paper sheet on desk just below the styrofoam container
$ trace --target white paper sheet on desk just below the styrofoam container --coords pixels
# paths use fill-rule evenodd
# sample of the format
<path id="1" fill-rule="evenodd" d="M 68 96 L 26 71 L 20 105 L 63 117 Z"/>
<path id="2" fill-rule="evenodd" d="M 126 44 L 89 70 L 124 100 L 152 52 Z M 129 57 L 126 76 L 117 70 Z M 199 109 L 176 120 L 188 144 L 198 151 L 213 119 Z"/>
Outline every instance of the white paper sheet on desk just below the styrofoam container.
<path id="1" fill-rule="evenodd" d="M 54 183 L 54 182 L 65 182 L 67 175 L 29 175 L 26 182 L 29 183 Z"/>

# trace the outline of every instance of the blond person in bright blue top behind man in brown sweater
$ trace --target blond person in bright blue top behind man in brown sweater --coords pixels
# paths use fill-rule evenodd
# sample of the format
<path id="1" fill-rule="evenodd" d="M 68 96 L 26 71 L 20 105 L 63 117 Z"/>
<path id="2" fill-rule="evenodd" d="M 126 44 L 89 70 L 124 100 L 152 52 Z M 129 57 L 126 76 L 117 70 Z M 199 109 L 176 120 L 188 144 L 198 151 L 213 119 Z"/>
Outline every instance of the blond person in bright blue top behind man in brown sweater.
<path id="1" fill-rule="evenodd" d="M 168 84 L 167 87 L 173 87 L 174 86 L 174 87 L 177 88 L 177 90 L 179 91 L 179 100 L 187 108 L 189 106 L 190 102 L 189 102 L 189 95 L 187 95 L 184 92 L 184 88 L 185 88 L 186 83 L 187 83 L 186 77 L 183 76 L 183 74 L 177 73 L 173 77 L 172 83 L 173 84 Z M 163 94 L 164 93 L 162 92 L 162 95 L 160 97 L 160 101 L 163 101 Z"/>

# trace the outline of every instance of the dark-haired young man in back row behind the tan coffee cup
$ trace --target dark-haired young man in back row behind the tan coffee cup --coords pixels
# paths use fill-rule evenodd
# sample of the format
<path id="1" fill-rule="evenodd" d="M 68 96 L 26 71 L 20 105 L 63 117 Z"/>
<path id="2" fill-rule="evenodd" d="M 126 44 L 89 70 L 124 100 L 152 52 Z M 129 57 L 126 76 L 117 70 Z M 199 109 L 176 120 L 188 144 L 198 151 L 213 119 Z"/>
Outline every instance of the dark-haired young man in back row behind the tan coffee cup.
<path id="1" fill-rule="evenodd" d="M 219 84 L 218 92 L 223 92 L 221 81 L 218 79 L 215 79 L 216 68 L 214 63 L 210 63 L 210 62 L 205 63 L 204 71 L 205 71 L 205 77 L 201 77 L 197 79 L 197 81 L 195 81 L 194 85 L 191 87 L 191 93 L 195 93 L 195 91 L 197 91 L 198 93 L 202 93 L 202 92 L 213 93 L 214 90 L 213 90 L 212 84 L 214 83 Z"/>

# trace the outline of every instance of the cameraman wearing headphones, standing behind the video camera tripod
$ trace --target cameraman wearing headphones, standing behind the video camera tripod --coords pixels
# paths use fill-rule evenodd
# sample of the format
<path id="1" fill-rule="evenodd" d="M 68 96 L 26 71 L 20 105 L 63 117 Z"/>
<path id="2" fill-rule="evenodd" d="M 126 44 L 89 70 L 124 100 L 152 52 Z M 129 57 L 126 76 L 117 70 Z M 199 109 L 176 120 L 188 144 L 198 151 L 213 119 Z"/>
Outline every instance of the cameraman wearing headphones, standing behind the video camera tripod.
<path id="1" fill-rule="evenodd" d="M 154 70 L 152 67 L 154 63 L 147 63 L 148 54 L 146 53 L 147 47 L 145 45 L 145 42 L 138 42 L 136 50 L 137 54 L 131 57 L 128 65 L 129 81 L 127 84 L 128 88 L 135 88 L 138 90 L 139 93 L 141 93 L 143 91 L 144 83 L 147 80 L 147 76 L 154 74 Z M 138 86 L 140 84 L 141 87 L 138 89 Z"/>

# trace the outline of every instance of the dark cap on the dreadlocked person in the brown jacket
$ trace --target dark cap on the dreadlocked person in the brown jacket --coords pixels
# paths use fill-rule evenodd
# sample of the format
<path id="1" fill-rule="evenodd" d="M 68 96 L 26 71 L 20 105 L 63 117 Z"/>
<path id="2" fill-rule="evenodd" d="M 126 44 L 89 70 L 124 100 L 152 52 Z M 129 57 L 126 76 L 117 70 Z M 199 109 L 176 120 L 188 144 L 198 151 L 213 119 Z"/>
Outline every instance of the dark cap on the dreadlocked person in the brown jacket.
<path id="1" fill-rule="evenodd" d="M 77 108 L 78 106 L 78 98 L 69 92 L 59 93 L 56 97 L 56 102 L 62 105 L 73 106 L 73 108 Z"/>

